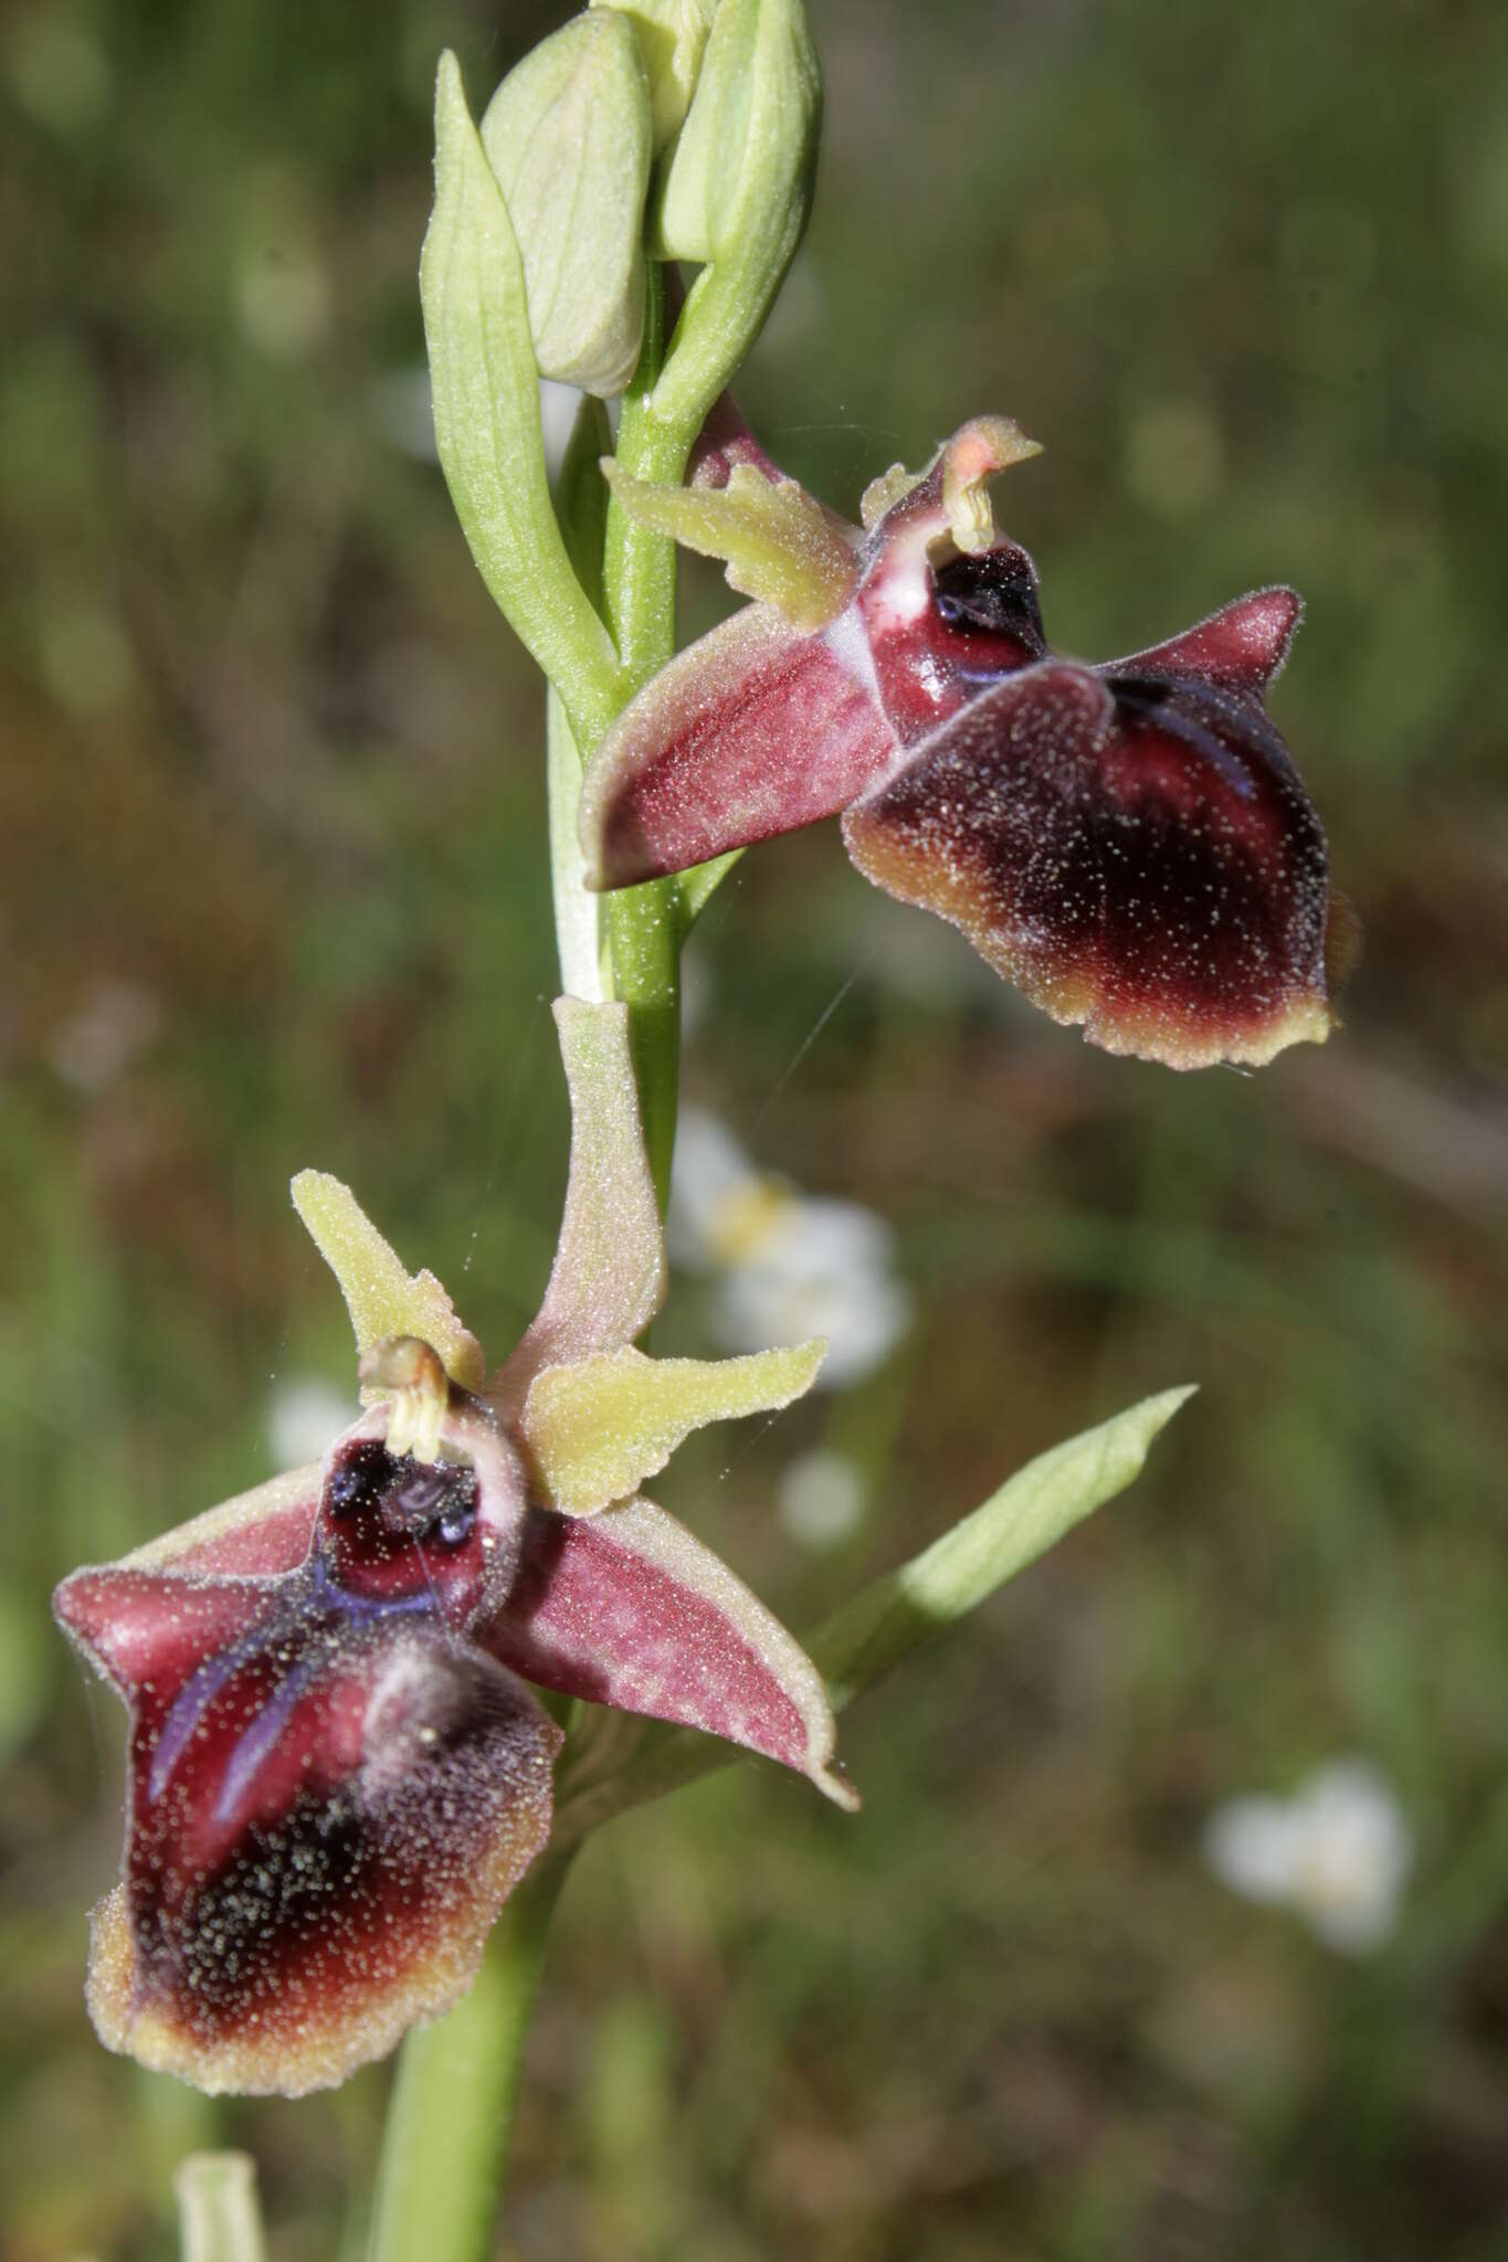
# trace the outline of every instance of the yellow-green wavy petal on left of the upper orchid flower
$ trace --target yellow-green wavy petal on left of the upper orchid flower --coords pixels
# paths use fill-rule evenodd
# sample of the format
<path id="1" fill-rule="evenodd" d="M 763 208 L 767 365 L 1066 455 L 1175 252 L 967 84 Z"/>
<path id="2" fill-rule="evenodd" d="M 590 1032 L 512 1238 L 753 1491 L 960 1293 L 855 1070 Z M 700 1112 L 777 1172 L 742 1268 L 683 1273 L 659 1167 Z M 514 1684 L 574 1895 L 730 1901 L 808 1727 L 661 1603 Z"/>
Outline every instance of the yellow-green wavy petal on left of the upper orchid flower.
<path id="1" fill-rule="evenodd" d="M 796 480 L 771 482 L 737 464 L 726 486 L 651 486 L 613 457 L 601 470 L 629 518 L 723 559 L 728 588 L 766 599 L 798 629 L 825 629 L 852 597 L 855 552 Z"/>

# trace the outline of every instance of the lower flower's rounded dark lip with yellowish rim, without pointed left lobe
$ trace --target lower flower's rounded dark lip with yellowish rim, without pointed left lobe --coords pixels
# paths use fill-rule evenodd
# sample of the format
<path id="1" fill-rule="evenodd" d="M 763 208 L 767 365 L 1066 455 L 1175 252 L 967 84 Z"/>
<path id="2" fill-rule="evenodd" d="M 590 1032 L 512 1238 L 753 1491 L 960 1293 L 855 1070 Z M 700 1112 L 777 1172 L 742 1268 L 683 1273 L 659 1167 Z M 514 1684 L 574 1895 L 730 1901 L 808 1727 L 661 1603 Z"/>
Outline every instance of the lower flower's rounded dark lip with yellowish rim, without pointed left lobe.
<path id="1" fill-rule="evenodd" d="M 339 2079 L 466 1984 L 545 1841 L 558 1730 L 491 1658 L 393 1613 L 244 1660 L 154 1798 L 167 1699 L 138 1696 L 102 2031 L 210 2088 Z"/>

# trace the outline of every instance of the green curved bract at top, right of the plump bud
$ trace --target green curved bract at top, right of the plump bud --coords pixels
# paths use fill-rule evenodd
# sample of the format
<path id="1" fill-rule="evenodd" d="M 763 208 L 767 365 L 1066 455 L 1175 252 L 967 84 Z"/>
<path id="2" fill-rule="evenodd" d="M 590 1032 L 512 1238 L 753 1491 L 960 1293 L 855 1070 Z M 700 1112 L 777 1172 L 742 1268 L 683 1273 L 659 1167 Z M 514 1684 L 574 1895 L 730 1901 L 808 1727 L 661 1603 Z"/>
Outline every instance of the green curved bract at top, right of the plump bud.
<path id="1" fill-rule="evenodd" d="M 800 0 L 721 0 L 653 226 L 699 260 L 665 375 L 667 425 L 696 430 L 760 335 L 812 206 L 823 84 Z"/>

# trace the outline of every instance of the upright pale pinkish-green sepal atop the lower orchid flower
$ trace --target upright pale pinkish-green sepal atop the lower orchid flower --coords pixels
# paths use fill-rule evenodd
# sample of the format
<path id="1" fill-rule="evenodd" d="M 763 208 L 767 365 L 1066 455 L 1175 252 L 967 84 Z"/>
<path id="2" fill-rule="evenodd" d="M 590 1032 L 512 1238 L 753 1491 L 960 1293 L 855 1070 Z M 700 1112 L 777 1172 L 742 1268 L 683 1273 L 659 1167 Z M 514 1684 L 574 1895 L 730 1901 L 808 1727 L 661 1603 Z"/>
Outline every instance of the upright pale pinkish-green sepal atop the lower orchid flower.
<path id="1" fill-rule="evenodd" d="M 665 1301 L 665 1235 L 649 1176 L 629 1007 L 556 998 L 570 1086 L 570 1179 L 545 1301 L 493 1396 L 518 1416 L 543 1366 L 619 1350 Z"/>

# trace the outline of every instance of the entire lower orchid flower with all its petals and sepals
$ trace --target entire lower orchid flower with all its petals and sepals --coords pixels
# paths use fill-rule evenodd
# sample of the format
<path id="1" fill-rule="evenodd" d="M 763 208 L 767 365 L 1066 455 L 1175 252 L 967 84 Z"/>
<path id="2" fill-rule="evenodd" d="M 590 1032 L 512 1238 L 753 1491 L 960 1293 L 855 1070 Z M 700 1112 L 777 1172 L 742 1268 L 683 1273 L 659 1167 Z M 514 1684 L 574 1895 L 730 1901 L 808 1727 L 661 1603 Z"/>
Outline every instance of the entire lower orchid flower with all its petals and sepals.
<path id="1" fill-rule="evenodd" d="M 303 1172 L 359 1418 L 323 1461 L 57 1590 L 131 1719 L 90 2015 L 206 2090 L 330 2086 L 466 1993 L 549 1837 L 563 1737 L 525 1683 L 705 1728 L 857 1805 L 816 1667 L 638 1491 L 690 1430 L 805 1391 L 823 1346 L 633 1348 L 665 1246 L 626 1009 L 561 1000 L 556 1022 L 565 1221 L 511 1357 L 488 1378 L 434 1276 Z"/>

